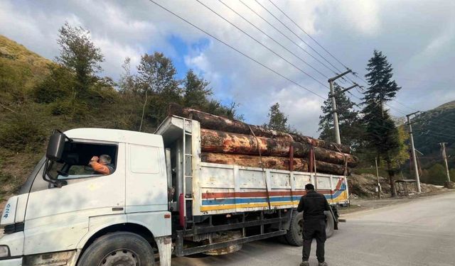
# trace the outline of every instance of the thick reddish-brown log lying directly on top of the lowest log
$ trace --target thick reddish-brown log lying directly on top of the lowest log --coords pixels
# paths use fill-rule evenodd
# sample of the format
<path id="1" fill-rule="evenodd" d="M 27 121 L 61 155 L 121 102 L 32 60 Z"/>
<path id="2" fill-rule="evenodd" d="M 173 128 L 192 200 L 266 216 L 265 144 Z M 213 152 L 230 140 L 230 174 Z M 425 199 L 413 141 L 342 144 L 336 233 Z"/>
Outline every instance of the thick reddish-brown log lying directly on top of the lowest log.
<path id="1" fill-rule="evenodd" d="M 294 148 L 294 157 L 309 157 L 311 145 L 309 143 L 298 143 L 295 141 L 283 140 L 282 138 L 263 138 L 252 135 L 227 133 L 201 128 L 201 150 L 206 153 L 233 153 L 242 155 L 261 155 L 289 157 L 289 147 Z M 358 158 L 347 154 L 339 153 L 326 148 L 314 147 L 316 160 L 331 162 L 338 165 L 355 167 Z"/>

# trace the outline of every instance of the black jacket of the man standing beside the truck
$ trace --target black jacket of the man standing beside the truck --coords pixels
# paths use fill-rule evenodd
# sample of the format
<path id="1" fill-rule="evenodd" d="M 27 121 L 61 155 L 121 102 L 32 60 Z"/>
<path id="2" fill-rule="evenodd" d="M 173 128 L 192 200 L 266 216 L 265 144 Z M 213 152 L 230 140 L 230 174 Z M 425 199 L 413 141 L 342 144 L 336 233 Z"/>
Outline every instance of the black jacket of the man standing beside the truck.
<path id="1" fill-rule="evenodd" d="M 297 211 L 304 212 L 304 220 L 314 218 L 326 218 L 324 211 L 329 211 L 330 206 L 326 197 L 314 190 L 310 190 L 302 196 Z"/>

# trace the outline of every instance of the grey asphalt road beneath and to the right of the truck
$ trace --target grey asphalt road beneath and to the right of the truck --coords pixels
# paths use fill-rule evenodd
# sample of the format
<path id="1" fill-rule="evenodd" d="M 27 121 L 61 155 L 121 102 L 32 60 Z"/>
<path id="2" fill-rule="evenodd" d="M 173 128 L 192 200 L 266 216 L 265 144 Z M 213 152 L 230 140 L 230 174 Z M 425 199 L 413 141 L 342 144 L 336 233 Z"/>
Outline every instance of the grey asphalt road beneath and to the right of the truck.
<path id="1" fill-rule="evenodd" d="M 326 242 L 329 265 L 455 265 L 455 192 L 348 214 Z M 311 265 L 318 265 L 316 243 Z M 237 253 L 176 257 L 172 265 L 299 265 L 301 248 L 274 240 L 245 244 Z"/>

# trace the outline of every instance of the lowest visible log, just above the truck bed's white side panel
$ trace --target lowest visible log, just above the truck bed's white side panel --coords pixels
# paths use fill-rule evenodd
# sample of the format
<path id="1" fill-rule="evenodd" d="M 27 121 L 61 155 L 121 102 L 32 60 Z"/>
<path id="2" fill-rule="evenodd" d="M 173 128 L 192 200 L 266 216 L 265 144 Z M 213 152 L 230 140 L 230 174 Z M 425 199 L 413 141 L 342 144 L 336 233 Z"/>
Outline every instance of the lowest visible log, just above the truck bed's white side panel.
<path id="1" fill-rule="evenodd" d="M 223 154 L 223 153 L 202 153 L 203 162 L 219 163 L 223 165 L 239 165 L 245 167 L 262 167 L 261 157 L 252 155 Z M 290 170 L 289 158 L 277 156 L 262 156 L 264 168 L 276 170 Z M 293 170 L 297 172 L 309 172 L 308 159 L 294 158 Z M 344 174 L 343 165 L 335 165 L 329 162 L 316 161 L 316 172 L 325 174 Z M 349 170 L 348 170 L 349 172 Z"/>

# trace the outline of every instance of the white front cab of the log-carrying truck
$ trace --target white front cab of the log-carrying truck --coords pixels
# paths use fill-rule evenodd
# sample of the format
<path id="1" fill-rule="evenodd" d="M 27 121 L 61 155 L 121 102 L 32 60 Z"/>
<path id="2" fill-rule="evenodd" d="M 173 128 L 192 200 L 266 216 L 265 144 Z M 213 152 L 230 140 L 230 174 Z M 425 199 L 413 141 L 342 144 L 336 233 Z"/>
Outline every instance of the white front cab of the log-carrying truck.
<path id="1" fill-rule="evenodd" d="M 140 231 L 155 242 L 171 235 L 161 135 L 105 128 L 54 135 L 48 153 L 57 155 L 43 157 L 6 203 L 0 265 L 76 265 L 109 232 Z M 94 155 L 109 155 L 113 172 L 88 167 Z"/>

